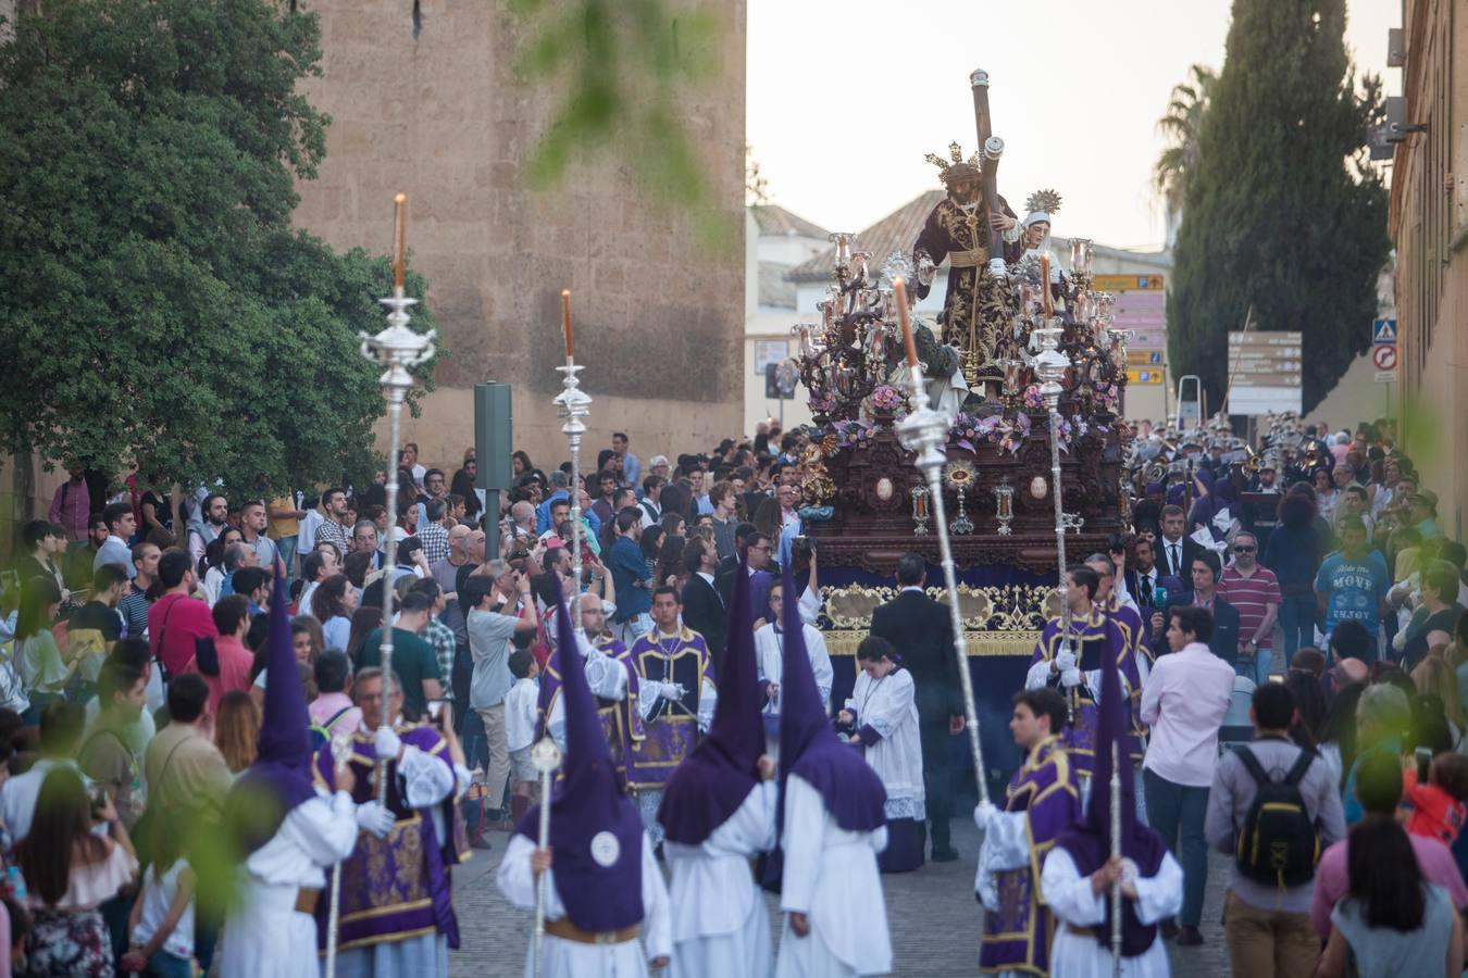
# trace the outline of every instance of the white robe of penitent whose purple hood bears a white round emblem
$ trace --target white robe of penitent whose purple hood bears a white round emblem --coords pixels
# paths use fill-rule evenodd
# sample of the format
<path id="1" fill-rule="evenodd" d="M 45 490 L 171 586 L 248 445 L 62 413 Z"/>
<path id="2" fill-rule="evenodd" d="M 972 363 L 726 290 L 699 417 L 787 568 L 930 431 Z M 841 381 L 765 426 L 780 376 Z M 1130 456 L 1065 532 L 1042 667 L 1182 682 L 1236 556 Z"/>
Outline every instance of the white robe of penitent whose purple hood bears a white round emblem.
<path id="1" fill-rule="evenodd" d="M 530 971 L 530 949 L 526 949 L 526 978 L 644 978 L 647 962 L 672 955 L 672 928 L 668 919 L 668 887 L 662 881 L 652 843 L 643 834 L 643 922 L 637 940 L 621 944 L 580 944 L 545 935 L 540 949 L 540 975 Z M 536 877 L 530 871 L 530 856 L 536 843 L 515 833 L 505 846 L 495 881 L 499 891 L 523 911 L 536 909 Z M 565 916 L 565 905 L 555 889 L 555 867 L 548 869 L 546 921 Z M 534 934 L 530 935 L 534 941 Z"/>

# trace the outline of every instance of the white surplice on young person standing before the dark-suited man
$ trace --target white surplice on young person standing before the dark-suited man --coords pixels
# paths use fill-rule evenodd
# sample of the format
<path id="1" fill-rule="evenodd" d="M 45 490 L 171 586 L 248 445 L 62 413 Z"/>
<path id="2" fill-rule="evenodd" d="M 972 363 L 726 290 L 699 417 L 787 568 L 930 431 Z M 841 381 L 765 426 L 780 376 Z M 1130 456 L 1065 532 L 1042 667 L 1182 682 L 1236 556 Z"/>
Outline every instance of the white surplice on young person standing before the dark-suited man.
<path id="1" fill-rule="evenodd" d="M 856 714 L 857 729 L 871 726 L 881 738 L 866 748 L 866 762 L 887 789 L 887 817 L 923 821 L 926 795 L 915 691 L 912 673 L 906 669 L 882 679 L 862 672 L 846 708 Z"/>

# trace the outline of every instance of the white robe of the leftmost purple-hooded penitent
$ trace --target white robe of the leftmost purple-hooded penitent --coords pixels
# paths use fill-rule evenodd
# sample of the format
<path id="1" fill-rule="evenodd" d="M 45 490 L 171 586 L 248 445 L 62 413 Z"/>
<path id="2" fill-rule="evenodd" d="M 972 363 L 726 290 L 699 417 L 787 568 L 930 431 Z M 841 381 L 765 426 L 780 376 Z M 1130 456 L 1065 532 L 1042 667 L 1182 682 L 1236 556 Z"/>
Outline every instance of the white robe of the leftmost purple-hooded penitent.
<path id="1" fill-rule="evenodd" d="M 292 808 L 280 828 L 245 859 L 239 900 L 225 921 L 223 978 L 319 978 L 316 918 L 297 913 L 297 890 L 323 889 L 324 867 L 357 846 L 351 795 L 321 793 Z"/>

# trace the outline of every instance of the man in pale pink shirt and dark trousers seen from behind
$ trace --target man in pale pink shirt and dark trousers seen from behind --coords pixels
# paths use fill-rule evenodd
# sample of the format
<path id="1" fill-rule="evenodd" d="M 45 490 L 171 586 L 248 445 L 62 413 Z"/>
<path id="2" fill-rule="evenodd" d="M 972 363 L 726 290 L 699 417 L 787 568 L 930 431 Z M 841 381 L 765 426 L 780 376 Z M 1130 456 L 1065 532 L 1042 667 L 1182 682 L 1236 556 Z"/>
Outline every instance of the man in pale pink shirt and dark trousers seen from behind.
<path id="1" fill-rule="evenodd" d="M 1233 666 L 1213 654 L 1213 614 L 1196 606 L 1171 606 L 1167 655 L 1160 655 L 1142 686 L 1142 723 L 1152 729 L 1142 761 L 1147 821 L 1183 865 L 1182 930 L 1163 927 L 1179 944 L 1201 944 L 1202 893 L 1208 881 L 1204 817 L 1218 758 L 1218 727 L 1233 696 Z M 1179 830 L 1182 837 L 1179 840 Z"/>

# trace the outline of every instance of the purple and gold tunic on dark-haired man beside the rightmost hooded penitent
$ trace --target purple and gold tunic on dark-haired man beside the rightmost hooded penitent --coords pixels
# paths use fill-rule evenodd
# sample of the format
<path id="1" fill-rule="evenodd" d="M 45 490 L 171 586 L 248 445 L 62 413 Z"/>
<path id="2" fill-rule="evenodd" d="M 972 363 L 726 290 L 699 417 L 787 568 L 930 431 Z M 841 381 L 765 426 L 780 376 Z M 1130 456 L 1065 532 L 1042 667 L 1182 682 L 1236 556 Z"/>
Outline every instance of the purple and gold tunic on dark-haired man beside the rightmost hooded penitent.
<path id="1" fill-rule="evenodd" d="M 1061 736 L 1041 740 L 1004 792 L 1006 812 L 1026 812 L 1029 865 L 995 874 L 1000 909 L 984 915 L 979 971 L 1050 974 L 1055 919 L 1039 891 L 1039 869 L 1055 836 L 1080 818 L 1080 786 Z"/>

